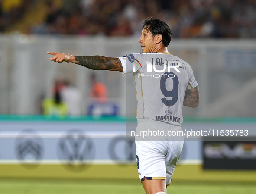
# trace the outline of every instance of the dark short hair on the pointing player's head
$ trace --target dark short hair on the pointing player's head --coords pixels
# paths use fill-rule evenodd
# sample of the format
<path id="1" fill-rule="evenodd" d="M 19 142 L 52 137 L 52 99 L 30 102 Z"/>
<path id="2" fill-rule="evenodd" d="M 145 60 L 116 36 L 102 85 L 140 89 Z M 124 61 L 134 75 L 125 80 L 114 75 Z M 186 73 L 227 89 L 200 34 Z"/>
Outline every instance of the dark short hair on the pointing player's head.
<path id="1" fill-rule="evenodd" d="M 144 21 L 143 28 L 150 31 L 153 37 L 157 34 L 162 34 L 162 44 L 164 47 L 168 47 L 172 40 L 172 32 L 164 21 L 157 18 L 150 18 Z"/>

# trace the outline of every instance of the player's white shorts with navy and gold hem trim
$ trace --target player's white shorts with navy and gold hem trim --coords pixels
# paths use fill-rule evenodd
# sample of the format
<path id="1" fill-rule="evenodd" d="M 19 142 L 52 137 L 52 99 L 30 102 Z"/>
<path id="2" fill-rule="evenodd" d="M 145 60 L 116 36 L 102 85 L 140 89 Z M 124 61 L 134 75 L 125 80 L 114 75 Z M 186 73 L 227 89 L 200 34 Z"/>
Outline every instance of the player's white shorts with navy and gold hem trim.
<path id="1" fill-rule="evenodd" d="M 164 122 L 151 119 L 138 119 L 136 130 L 151 129 L 168 131 L 173 128 L 175 130 L 181 130 L 181 127 L 175 127 Z M 135 141 L 140 180 L 166 179 L 166 185 L 169 185 L 175 166 L 181 155 L 183 142 L 183 140 Z"/>

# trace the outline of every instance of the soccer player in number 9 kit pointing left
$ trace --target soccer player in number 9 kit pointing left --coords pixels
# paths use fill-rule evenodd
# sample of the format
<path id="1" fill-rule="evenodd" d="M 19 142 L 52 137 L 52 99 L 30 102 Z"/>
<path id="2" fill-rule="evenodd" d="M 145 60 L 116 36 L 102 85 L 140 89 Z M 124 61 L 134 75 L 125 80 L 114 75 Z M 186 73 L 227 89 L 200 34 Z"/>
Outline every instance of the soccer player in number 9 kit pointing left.
<path id="1" fill-rule="evenodd" d="M 160 19 L 151 18 L 143 23 L 139 38 L 142 53 L 119 58 L 48 54 L 53 55 L 50 60 L 58 63 L 65 61 L 94 70 L 133 72 L 137 97 L 136 131 L 181 131 L 182 105 L 197 107 L 199 90 L 191 66 L 168 52 L 171 39 L 169 26 Z M 143 140 L 136 141 L 139 178 L 146 194 L 166 194 L 183 140 Z"/>

